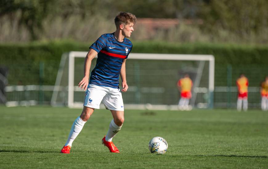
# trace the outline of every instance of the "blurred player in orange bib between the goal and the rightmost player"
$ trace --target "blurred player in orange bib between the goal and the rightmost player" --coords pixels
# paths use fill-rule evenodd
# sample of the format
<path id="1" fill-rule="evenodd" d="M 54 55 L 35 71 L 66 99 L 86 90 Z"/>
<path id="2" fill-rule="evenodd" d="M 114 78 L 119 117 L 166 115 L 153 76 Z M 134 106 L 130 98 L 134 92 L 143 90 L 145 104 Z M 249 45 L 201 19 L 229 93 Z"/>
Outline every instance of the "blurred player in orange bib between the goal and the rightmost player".
<path id="1" fill-rule="evenodd" d="M 236 80 L 236 85 L 238 88 L 237 110 L 238 111 L 242 110 L 242 103 L 243 103 L 243 110 L 247 111 L 249 81 L 244 74 L 241 74 L 240 77 Z"/>

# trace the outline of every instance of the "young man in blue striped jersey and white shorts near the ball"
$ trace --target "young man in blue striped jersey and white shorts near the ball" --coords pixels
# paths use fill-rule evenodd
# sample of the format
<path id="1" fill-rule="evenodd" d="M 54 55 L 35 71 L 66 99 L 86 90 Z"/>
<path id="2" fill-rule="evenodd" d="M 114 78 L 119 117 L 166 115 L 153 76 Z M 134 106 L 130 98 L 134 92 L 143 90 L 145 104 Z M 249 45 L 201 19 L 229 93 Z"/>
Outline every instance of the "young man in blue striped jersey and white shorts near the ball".
<path id="1" fill-rule="evenodd" d="M 75 119 L 61 153 L 70 153 L 73 141 L 81 132 L 94 109 L 99 109 L 101 101 L 104 102 L 105 107 L 111 111 L 113 116 L 102 143 L 109 148 L 110 152 L 119 153 L 112 142 L 112 138 L 120 131 L 124 122 L 124 104 L 119 89 L 119 75 L 122 79 L 122 92 L 126 92 L 128 85 L 125 64 L 132 49 L 132 43 L 126 37 L 131 36 L 135 23 L 135 15 L 121 12 L 115 18 L 116 31 L 101 35 L 90 46 L 84 63 L 84 77 L 78 84 L 79 88 L 81 87 L 84 91 L 87 89 L 84 108 L 81 115 Z M 91 61 L 97 54 L 97 63 L 89 79 Z"/>

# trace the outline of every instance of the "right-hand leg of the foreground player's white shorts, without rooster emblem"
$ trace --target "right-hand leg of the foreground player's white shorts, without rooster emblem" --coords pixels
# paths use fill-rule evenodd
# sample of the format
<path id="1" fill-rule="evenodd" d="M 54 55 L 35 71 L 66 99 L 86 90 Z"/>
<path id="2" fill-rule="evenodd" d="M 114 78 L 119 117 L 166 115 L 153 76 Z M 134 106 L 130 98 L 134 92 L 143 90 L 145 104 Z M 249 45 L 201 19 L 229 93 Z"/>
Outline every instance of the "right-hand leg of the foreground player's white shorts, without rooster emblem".
<path id="1" fill-rule="evenodd" d="M 123 111 L 124 112 L 124 102 L 120 89 L 111 89 L 107 95 L 103 98 L 103 103 L 109 110 Z"/>

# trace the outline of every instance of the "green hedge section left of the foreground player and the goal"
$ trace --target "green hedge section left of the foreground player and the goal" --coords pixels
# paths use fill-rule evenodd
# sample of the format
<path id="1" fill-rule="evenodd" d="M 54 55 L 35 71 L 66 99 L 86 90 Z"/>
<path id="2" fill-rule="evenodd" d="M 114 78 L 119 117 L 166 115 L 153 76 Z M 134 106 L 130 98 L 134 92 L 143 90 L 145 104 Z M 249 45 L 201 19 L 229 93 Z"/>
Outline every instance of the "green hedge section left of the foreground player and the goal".
<path id="1" fill-rule="evenodd" d="M 10 85 L 38 85 L 39 63 L 44 63 L 44 85 L 54 85 L 61 55 L 76 50 L 86 51 L 88 45 L 74 42 L 48 42 L 0 45 L 0 65 L 8 67 Z"/>

